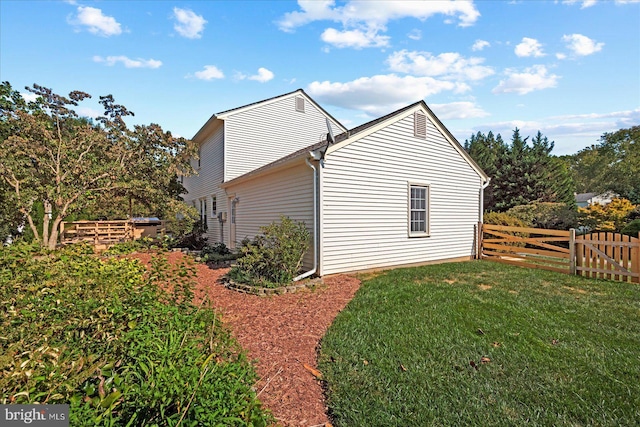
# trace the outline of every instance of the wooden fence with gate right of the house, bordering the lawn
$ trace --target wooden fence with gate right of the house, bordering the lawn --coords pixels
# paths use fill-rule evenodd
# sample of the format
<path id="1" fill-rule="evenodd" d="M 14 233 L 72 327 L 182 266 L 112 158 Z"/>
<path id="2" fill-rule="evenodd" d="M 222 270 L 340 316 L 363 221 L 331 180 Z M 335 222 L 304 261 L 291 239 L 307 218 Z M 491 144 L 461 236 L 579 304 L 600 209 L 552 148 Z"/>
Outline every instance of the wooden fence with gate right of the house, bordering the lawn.
<path id="1" fill-rule="evenodd" d="M 480 257 L 522 267 L 640 283 L 640 235 L 479 224 Z"/>

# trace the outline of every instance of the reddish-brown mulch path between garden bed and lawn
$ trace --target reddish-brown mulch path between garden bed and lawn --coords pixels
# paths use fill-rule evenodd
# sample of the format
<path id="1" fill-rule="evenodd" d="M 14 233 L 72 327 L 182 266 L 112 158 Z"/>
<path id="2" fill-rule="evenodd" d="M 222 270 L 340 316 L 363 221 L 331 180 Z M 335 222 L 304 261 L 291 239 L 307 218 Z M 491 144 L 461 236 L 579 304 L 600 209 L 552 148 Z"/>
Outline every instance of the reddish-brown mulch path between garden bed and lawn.
<path id="1" fill-rule="evenodd" d="M 149 254 L 134 254 L 147 263 Z M 173 263 L 184 255 L 170 253 Z M 320 339 L 336 315 L 353 298 L 360 281 L 352 276 L 325 278 L 324 285 L 269 297 L 225 288 L 220 278 L 228 269 L 197 264 L 196 300 L 206 295 L 240 345 L 255 363 L 260 377 L 255 388 L 264 406 L 283 426 L 329 423 L 316 368 Z"/>

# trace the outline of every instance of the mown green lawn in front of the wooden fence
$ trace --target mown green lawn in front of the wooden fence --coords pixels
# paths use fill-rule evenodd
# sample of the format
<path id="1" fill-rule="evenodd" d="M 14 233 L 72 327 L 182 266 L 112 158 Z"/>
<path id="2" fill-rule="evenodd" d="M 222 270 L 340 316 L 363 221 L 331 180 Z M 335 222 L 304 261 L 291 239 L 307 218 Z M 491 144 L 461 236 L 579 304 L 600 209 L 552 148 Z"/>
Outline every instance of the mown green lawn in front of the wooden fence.
<path id="1" fill-rule="evenodd" d="M 640 285 L 486 261 L 366 276 L 319 368 L 337 426 L 638 425 Z"/>

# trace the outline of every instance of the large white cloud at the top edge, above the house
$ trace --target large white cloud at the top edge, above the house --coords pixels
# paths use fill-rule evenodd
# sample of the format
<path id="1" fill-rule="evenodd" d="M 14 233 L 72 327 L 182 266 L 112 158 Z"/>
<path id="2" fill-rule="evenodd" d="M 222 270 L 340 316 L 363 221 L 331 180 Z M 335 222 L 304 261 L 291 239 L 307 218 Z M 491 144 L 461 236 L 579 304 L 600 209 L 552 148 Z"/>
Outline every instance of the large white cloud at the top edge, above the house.
<path id="1" fill-rule="evenodd" d="M 381 35 L 387 31 L 387 23 L 402 18 L 424 21 L 442 14 L 457 17 L 462 27 L 473 25 L 480 12 L 473 1 L 354 1 L 337 6 L 333 0 L 298 0 L 300 10 L 286 13 L 277 25 L 282 31 L 293 32 L 296 28 L 315 21 L 341 23 L 342 30 L 327 28 L 322 40 L 338 47 L 387 46 L 389 37 Z M 410 36 L 411 37 L 411 36 Z"/>

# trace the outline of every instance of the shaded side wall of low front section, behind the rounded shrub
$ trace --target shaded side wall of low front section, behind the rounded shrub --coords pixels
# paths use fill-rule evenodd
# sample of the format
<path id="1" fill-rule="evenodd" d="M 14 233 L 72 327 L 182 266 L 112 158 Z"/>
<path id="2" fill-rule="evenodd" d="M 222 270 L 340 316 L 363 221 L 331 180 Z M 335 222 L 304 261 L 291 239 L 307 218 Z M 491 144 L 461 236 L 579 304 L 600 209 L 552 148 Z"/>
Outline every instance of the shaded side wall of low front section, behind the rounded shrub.
<path id="1" fill-rule="evenodd" d="M 252 239 L 260 227 L 279 221 L 280 215 L 303 221 L 313 236 L 313 170 L 304 162 L 227 188 L 238 198 L 235 211 L 236 240 Z M 311 240 L 304 268 L 313 266 Z"/>

